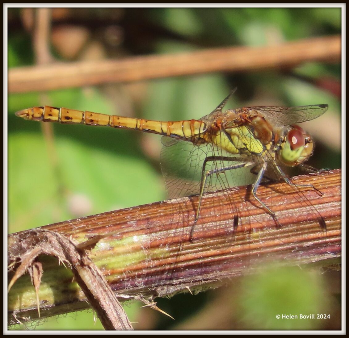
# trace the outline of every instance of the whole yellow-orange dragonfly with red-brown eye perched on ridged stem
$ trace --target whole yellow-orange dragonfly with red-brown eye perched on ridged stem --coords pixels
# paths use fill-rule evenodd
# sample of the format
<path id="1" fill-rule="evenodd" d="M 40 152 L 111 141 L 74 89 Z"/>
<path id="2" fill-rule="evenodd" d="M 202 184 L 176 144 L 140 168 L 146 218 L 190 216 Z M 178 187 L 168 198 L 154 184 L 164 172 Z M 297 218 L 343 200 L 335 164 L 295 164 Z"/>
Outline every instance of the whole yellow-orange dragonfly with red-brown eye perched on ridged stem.
<path id="1" fill-rule="evenodd" d="M 312 185 L 296 186 L 284 168 L 310 168 L 304 163 L 313 153 L 314 142 L 297 123 L 318 118 L 327 111 L 328 105 L 223 110 L 233 92 L 210 114 L 198 120 L 156 121 L 51 106 L 27 108 L 15 114 L 25 120 L 109 126 L 163 135 L 161 168 L 169 197 L 199 195 L 190 232 L 192 240 L 203 196 L 245 185 L 244 179 L 239 180 L 245 175 L 240 171 L 243 168 L 249 170 L 251 182 L 248 184 L 252 184 L 253 197 L 277 226 L 281 225 L 275 213 L 257 195 L 261 183 L 282 180 L 299 194 L 302 187 L 321 194 Z M 325 220 L 305 197 L 302 198 L 316 213 L 321 230 L 326 231 Z M 232 209 L 236 208 L 232 206 Z"/>

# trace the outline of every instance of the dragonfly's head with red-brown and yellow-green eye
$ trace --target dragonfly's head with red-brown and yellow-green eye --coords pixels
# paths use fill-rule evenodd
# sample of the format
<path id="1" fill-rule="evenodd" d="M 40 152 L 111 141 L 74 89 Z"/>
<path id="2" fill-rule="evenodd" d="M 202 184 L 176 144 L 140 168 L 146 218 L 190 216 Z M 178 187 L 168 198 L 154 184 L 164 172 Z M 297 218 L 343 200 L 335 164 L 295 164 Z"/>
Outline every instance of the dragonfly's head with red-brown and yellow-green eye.
<path id="1" fill-rule="evenodd" d="M 281 137 L 279 159 L 288 166 L 306 161 L 313 153 L 314 142 L 309 134 L 297 125 L 290 125 Z"/>

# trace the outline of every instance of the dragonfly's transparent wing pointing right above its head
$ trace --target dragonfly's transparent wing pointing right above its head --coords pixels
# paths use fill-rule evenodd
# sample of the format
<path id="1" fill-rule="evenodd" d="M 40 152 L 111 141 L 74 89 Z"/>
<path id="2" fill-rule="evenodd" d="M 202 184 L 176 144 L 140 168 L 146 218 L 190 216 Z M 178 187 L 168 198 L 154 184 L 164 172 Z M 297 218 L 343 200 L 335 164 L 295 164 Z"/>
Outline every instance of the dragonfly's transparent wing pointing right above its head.
<path id="1" fill-rule="evenodd" d="M 299 107 L 248 107 L 272 122 L 275 127 L 292 125 L 316 119 L 327 111 L 327 104 Z"/>

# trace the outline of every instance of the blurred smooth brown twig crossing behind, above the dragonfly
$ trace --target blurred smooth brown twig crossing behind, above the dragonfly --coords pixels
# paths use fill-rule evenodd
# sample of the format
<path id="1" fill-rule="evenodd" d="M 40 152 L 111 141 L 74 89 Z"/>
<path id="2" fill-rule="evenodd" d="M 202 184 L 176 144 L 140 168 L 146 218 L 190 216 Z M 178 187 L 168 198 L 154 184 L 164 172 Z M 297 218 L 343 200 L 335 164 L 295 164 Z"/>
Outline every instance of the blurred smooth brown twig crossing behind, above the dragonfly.
<path id="1" fill-rule="evenodd" d="M 130 57 L 120 60 L 53 63 L 9 69 L 9 93 L 82 87 L 211 72 L 290 68 L 307 61 L 340 62 L 341 36 L 263 47 L 229 47 Z"/>

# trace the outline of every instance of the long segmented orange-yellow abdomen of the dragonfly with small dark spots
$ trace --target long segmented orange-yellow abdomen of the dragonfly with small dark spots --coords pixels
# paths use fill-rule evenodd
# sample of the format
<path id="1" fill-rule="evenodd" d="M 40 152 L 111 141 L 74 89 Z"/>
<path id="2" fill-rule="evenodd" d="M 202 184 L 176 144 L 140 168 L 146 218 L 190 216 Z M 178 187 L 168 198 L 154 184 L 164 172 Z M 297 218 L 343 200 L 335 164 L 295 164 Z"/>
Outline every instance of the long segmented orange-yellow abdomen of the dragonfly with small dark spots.
<path id="1" fill-rule="evenodd" d="M 198 138 L 195 135 L 206 130 L 205 122 L 194 119 L 188 121 L 154 121 L 50 106 L 24 109 L 16 112 L 16 115 L 25 120 L 136 129 L 173 138 L 186 138 L 193 142 Z"/>

